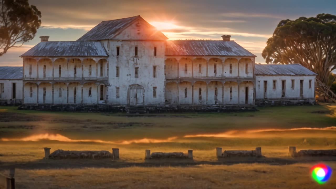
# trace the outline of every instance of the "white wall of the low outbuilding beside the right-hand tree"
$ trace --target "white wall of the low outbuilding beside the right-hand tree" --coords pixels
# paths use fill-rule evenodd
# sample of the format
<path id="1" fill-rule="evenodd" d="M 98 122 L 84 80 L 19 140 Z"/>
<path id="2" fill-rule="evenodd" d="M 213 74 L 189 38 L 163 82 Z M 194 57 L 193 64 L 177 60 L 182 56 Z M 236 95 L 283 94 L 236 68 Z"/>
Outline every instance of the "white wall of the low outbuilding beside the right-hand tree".
<path id="1" fill-rule="evenodd" d="M 303 80 L 303 98 L 314 98 L 315 76 L 290 76 L 290 75 L 256 75 L 256 99 L 264 98 L 264 81 L 267 81 L 268 99 L 282 98 L 282 80 L 286 80 L 285 97 L 283 98 L 300 98 L 300 80 Z M 292 89 L 292 79 L 294 79 L 294 89 Z M 273 89 L 273 80 L 276 80 L 276 89 Z M 309 80 L 311 88 L 309 88 Z"/>

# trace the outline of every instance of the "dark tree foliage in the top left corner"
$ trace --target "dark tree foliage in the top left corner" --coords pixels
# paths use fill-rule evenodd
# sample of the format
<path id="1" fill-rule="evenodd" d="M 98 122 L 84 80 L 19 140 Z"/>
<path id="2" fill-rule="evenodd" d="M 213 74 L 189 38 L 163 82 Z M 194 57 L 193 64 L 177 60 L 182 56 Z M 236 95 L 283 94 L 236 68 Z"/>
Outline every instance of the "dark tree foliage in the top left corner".
<path id="1" fill-rule="evenodd" d="M 28 0 L 0 0 L 0 56 L 35 37 L 41 12 Z"/>

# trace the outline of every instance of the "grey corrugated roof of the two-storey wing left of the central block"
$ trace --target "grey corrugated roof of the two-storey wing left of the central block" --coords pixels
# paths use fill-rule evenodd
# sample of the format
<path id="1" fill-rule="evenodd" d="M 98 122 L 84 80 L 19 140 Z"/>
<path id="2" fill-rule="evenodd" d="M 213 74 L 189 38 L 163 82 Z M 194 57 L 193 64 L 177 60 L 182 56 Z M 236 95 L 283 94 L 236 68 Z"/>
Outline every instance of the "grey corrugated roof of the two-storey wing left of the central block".
<path id="1" fill-rule="evenodd" d="M 100 42 L 47 41 L 40 42 L 21 56 L 108 56 Z"/>

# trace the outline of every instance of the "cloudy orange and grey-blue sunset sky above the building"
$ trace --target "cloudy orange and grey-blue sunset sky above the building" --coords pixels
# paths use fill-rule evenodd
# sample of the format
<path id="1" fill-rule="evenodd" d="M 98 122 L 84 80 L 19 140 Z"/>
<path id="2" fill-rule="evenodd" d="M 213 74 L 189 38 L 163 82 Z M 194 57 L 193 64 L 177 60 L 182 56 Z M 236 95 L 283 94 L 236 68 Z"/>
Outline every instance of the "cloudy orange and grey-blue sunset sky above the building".
<path id="1" fill-rule="evenodd" d="M 42 27 L 36 37 L 0 57 L 0 66 L 22 66 L 19 55 L 40 42 L 74 41 L 101 21 L 140 15 L 169 39 L 221 40 L 231 35 L 257 55 L 279 21 L 318 13 L 336 14 L 335 0 L 29 0 L 42 12 Z"/>

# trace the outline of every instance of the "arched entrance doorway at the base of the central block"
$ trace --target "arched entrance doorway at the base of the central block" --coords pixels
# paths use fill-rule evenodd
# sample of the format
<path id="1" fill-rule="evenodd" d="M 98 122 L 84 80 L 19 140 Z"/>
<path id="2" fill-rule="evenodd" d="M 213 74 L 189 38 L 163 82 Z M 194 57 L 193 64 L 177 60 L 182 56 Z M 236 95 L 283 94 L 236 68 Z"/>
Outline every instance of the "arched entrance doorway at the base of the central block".
<path id="1" fill-rule="evenodd" d="M 145 90 L 139 84 L 131 84 L 127 90 L 127 104 L 128 105 L 144 105 L 145 104 Z"/>

